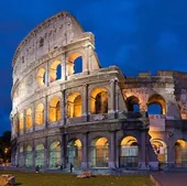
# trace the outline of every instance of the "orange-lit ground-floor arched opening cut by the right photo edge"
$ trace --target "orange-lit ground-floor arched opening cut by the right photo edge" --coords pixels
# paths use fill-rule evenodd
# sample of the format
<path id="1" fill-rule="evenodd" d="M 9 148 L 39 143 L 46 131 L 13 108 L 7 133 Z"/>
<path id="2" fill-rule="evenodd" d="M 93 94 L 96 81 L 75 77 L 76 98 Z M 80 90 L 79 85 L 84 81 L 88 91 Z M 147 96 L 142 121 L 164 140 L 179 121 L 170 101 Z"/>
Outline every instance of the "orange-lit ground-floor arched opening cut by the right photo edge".
<path id="1" fill-rule="evenodd" d="M 175 143 L 175 163 L 177 167 L 185 166 L 187 162 L 187 145 L 186 141 L 177 140 Z"/>

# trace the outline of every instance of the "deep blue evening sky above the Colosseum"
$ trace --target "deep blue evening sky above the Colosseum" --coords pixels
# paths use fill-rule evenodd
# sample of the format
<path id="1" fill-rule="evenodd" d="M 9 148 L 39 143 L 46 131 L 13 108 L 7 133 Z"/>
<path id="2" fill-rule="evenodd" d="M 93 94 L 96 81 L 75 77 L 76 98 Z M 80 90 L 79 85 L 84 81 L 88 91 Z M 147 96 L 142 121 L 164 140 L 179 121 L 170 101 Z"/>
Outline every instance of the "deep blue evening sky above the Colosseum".
<path id="1" fill-rule="evenodd" d="M 186 0 L 0 0 L 0 134 L 10 129 L 13 53 L 46 18 L 69 11 L 96 36 L 102 67 L 187 72 Z"/>

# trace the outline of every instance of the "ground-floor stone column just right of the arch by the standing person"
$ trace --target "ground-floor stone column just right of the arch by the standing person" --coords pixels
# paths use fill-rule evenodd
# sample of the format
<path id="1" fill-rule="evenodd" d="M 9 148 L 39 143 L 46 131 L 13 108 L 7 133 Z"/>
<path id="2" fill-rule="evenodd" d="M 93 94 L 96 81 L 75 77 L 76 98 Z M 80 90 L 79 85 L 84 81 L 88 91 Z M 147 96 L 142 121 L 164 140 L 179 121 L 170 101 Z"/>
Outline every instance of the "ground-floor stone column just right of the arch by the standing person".
<path id="1" fill-rule="evenodd" d="M 84 133 L 81 168 L 88 168 L 88 132 Z"/>

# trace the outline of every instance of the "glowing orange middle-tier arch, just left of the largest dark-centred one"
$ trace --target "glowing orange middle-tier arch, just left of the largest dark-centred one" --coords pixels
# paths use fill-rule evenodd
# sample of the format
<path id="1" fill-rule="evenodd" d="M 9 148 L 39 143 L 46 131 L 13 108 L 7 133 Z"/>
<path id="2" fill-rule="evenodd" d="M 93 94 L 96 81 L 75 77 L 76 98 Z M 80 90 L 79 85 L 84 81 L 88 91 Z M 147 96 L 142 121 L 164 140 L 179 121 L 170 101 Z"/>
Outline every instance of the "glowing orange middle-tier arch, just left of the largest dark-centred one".
<path id="1" fill-rule="evenodd" d="M 81 117 L 81 96 L 78 92 L 72 94 L 67 99 L 68 118 Z"/>

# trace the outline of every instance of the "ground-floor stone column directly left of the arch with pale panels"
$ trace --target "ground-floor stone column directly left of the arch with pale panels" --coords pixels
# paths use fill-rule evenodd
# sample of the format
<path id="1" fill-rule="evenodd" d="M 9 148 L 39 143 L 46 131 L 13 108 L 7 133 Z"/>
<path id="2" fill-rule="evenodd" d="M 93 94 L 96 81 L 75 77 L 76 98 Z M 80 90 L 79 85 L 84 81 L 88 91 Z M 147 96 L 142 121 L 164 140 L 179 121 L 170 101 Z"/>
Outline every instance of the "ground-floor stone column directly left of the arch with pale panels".
<path id="1" fill-rule="evenodd" d="M 116 132 L 110 132 L 109 168 L 116 168 Z"/>

